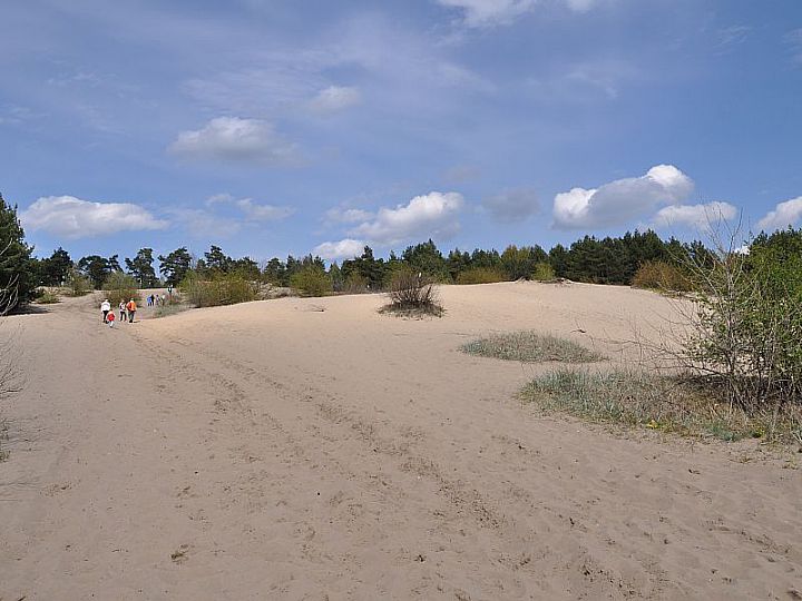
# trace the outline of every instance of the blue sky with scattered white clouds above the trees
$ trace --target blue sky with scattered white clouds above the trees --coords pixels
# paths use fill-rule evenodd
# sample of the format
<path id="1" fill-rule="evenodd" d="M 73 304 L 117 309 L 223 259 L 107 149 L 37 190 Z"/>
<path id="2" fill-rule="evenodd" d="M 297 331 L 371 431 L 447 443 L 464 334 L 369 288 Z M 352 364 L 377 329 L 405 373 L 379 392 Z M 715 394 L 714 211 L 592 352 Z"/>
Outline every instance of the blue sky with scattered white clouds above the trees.
<path id="1" fill-rule="evenodd" d="M 802 225 L 800 0 L 26 0 L 0 22 L 0 191 L 38 256 Z"/>

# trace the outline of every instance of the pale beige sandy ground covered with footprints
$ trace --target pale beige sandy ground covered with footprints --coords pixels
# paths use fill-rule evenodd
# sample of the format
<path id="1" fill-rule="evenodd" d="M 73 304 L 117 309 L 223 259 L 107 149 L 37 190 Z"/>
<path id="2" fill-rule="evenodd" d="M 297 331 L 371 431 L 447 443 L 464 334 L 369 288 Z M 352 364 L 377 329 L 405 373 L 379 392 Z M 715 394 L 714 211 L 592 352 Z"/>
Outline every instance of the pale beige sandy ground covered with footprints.
<path id="1" fill-rule="evenodd" d="M 626 354 L 666 299 L 442 296 L 433 321 L 378 296 L 9 318 L 0 599 L 802 598 L 792 462 L 545 417 L 514 397 L 536 368 L 458 352 L 536 328 Z"/>

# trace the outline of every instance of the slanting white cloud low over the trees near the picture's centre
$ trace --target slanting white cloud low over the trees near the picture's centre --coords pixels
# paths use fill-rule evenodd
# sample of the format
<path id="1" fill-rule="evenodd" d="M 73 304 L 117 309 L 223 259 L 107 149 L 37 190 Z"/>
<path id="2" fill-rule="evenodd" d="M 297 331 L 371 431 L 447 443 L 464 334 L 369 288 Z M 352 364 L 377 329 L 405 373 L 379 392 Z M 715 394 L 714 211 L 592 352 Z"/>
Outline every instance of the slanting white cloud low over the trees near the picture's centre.
<path id="1" fill-rule="evenodd" d="M 431 191 L 415 196 L 407 205 L 381 208 L 375 217 L 360 224 L 352 236 L 390 246 L 410 239 L 449 237 L 458 228 L 457 216 L 464 205 L 459 193 Z"/>

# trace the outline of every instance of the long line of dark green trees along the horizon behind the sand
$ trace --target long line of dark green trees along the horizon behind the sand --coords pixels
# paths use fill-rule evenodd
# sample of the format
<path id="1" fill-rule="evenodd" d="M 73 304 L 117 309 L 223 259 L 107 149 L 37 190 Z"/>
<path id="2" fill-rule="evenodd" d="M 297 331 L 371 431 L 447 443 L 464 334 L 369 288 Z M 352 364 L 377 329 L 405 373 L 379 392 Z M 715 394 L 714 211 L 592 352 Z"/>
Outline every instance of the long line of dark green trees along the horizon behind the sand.
<path id="1" fill-rule="evenodd" d="M 772 235 L 761 234 L 753 240 L 755 248 L 777 246 L 795 248 L 802 229 L 789 228 Z M 791 240 L 791 242 L 789 242 Z M 447 284 L 471 284 L 525 279 L 567 278 L 591 284 L 629 285 L 645 264 L 679 265 L 691 257 L 705 263 L 712 256 L 701 242 L 683 243 L 662 239 L 655 231 L 627 231 L 623 236 L 597 238 L 585 236 L 568 246 L 555 245 L 548 252 L 539 245 L 475 248 L 471 252 L 453 248 L 441 252 L 431 239 L 408 246 L 400 255 L 391 252 L 388 258 L 376 257 L 365 246 L 358 257 L 327 267 L 317 256 L 278 257 L 258 263 L 245 256 L 233 258 L 219 246 L 212 246 L 202 257 L 195 257 L 183 246 L 166 255 L 154 255 L 153 248 L 140 248 L 133 257 L 120 260 L 119 255 L 104 257 L 87 255 L 75 260 L 59 247 L 49 257 L 36 258 L 33 248 L 25 242 L 25 233 L 17 218 L 17 208 L 0 196 L 0 287 L 17 278 L 20 302 L 32 297 L 39 286 L 61 286 L 70 278 L 84 277 L 91 287 L 102 288 L 111 274 L 127 273 L 141 288 L 158 285 L 178 286 L 188 274 L 196 278 L 216 275 L 237 275 L 250 282 L 293 286 L 300 277 L 316 278 L 325 292 L 378 290 L 385 287 L 401 267 Z M 798 252 L 798 250 L 791 250 Z M 158 262 L 158 275 L 156 263 Z"/>

